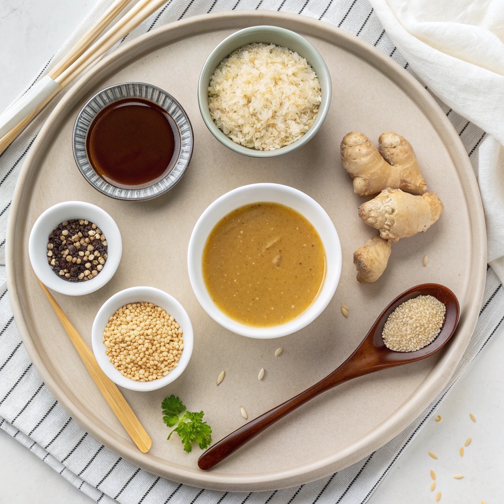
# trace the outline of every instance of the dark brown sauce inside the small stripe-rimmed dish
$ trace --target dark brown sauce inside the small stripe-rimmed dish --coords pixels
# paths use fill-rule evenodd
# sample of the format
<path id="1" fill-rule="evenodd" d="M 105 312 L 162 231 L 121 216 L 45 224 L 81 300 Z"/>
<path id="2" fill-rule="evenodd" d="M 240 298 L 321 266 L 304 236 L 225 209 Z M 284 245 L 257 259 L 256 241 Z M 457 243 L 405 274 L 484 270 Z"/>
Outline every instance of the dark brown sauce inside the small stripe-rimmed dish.
<path id="1" fill-rule="evenodd" d="M 125 189 L 149 187 L 175 166 L 180 134 L 173 118 L 156 103 L 123 98 L 100 110 L 86 137 L 93 169 Z"/>

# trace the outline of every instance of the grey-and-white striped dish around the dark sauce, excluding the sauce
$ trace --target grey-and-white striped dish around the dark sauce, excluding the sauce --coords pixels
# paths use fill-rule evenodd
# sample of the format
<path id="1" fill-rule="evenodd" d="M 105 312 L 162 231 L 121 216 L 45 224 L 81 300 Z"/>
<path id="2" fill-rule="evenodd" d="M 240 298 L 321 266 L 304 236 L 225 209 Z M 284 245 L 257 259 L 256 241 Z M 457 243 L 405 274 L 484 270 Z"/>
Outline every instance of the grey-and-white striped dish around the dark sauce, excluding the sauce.
<path id="1" fill-rule="evenodd" d="M 173 169 L 159 182 L 140 189 L 121 189 L 109 184 L 94 171 L 86 154 L 86 135 L 96 114 L 108 104 L 129 97 L 157 103 L 171 115 L 180 133 L 180 153 Z M 194 135 L 185 110 L 173 96 L 151 84 L 125 82 L 102 89 L 82 107 L 75 121 L 73 146 L 79 170 L 97 191 L 117 200 L 139 201 L 166 193 L 182 178 L 193 155 Z"/>

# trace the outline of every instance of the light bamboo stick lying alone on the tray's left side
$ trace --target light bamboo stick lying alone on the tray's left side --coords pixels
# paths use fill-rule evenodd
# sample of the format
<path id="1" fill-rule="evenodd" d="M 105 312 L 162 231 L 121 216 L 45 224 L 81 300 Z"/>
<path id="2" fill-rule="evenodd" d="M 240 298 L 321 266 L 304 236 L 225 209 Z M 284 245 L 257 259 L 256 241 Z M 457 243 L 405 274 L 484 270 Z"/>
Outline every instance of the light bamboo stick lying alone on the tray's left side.
<path id="1" fill-rule="evenodd" d="M 147 434 L 130 405 L 119 392 L 119 389 L 101 370 L 98 362 L 96 362 L 93 352 L 86 345 L 80 334 L 75 330 L 74 326 L 72 326 L 65 312 L 61 309 L 54 297 L 52 297 L 52 294 L 47 290 L 47 287 L 40 282 L 40 280 L 39 283 L 42 286 L 42 290 L 45 292 L 45 295 L 51 302 L 56 315 L 61 321 L 61 324 L 63 324 L 65 331 L 67 331 L 70 340 L 79 352 L 79 355 L 84 362 L 84 365 L 87 367 L 89 374 L 91 374 L 92 379 L 100 389 L 100 392 L 103 394 L 107 403 L 112 408 L 115 416 L 122 423 L 128 434 L 130 434 L 138 449 L 142 453 L 147 453 L 152 445 L 152 440 L 149 437 L 149 434 Z"/>

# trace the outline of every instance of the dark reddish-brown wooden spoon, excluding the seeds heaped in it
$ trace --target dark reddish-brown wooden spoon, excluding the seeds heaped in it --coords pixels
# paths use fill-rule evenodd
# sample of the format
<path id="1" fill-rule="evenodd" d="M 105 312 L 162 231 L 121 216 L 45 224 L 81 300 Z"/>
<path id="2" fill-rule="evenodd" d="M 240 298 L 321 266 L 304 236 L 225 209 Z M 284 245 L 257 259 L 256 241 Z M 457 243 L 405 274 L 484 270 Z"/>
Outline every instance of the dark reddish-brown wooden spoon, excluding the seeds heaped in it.
<path id="1" fill-rule="evenodd" d="M 420 295 L 431 295 L 445 304 L 445 322 L 441 331 L 432 343 L 415 352 L 395 352 L 389 350 L 382 338 L 385 322 L 387 322 L 389 315 L 401 303 Z M 386 369 L 387 367 L 408 364 L 429 357 L 443 348 L 453 336 L 459 322 L 459 314 L 460 307 L 455 294 L 443 285 L 423 284 L 407 290 L 383 310 L 357 350 L 341 366 L 319 383 L 231 432 L 231 434 L 210 447 L 200 457 L 198 466 L 203 470 L 211 469 L 271 424 L 280 420 L 280 418 L 283 418 L 310 399 L 337 385 L 348 382 L 348 380 L 352 380 L 352 378 L 362 376 L 363 374 Z"/>

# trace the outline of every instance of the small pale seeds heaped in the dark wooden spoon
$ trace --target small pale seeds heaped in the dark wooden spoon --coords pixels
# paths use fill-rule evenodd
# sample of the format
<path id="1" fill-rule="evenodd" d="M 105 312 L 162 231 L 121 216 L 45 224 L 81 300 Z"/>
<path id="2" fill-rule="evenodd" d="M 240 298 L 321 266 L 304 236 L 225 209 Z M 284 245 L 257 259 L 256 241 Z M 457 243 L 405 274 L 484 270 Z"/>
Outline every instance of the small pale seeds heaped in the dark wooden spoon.
<path id="1" fill-rule="evenodd" d="M 434 341 L 445 321 L 446 306 L 434 296 L 417 296 L 389 316 L 382 337 L 387 348 L 414 352 Z"/>

